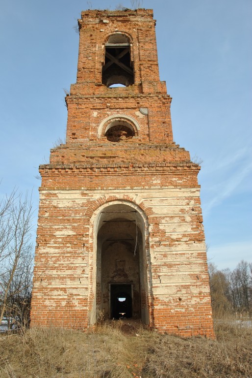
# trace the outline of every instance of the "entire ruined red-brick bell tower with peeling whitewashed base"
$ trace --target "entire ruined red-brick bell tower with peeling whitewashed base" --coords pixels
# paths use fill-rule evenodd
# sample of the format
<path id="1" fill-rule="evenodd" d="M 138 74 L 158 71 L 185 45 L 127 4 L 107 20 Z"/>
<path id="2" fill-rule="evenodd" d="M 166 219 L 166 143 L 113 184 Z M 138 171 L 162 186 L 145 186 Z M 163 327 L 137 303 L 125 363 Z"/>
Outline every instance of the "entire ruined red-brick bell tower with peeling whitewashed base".
<path id="1" fill-rule="evenodd" d="M 32 324 L 124 316 L 212 337 L 200 167 L 173 141 L 152 10 L 78 24 L 66 144 L 40 166 Z"/>

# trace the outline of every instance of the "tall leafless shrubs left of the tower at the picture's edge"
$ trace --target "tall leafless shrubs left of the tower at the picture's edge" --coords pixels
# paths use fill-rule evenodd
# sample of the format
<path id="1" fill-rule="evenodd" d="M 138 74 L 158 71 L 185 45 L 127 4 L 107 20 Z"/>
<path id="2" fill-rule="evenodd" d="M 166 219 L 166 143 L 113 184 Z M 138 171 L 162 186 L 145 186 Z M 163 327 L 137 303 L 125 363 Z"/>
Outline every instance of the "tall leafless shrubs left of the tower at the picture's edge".
<path id="1" fill-rule="evenodd" d="M 31 244 L 32 203 L 27 193 L 13 190 L 0 201 L 0 322 L 8 319 L 28 323 L 33 246 Z"/>

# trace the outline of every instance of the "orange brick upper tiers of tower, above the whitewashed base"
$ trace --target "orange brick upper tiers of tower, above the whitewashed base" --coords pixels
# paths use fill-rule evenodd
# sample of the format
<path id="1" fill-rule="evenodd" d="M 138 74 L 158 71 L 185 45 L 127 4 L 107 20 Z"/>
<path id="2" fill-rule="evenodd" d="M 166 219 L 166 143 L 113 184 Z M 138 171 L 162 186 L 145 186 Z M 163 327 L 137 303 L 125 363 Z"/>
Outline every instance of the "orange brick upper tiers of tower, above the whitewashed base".
<path id="1" fill-rule="evenodd" d="M 78 25 L 66 144 L 51 150 L 51 164 L 189 162 L 173 141 L 152 10 L 87 10 Z"/>

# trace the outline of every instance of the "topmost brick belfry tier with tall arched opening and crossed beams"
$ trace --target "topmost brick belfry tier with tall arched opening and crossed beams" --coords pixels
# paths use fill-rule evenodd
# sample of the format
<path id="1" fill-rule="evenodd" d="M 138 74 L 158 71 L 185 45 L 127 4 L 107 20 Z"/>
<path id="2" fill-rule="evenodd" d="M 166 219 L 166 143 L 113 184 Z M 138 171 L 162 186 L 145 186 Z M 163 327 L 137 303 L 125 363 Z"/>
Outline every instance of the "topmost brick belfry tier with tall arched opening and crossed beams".
<path id="1" fill-rule="evenodd" d="M 155 20 L 151 9 L 81 12 L 77 82 L 71 94 L 108 94 L 113 84 L 125 93 L 166 94 L 159 80 Z M 122 93 L 122 91 L 121 91 Z"/>

